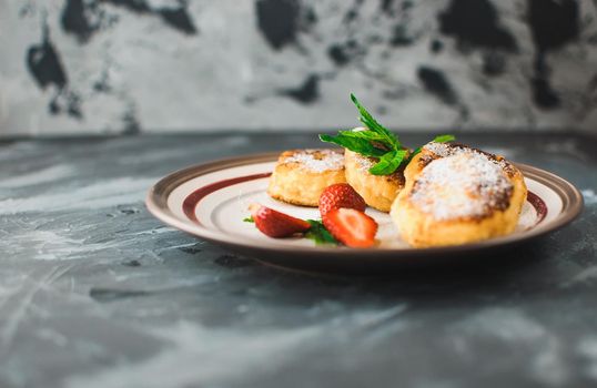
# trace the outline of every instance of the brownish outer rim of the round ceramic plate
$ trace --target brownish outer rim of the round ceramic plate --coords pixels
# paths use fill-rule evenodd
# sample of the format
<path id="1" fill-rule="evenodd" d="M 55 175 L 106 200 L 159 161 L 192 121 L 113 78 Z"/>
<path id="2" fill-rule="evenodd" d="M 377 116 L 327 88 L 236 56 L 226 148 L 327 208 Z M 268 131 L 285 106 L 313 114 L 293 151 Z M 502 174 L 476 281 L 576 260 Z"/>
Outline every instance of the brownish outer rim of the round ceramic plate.
<path id="1" fill-rule="evenodd" d="M 145 206 L 148 211 L 163 223 L 173 226 L 180 231 L 186 232 L 194 236 L 201 237 L 209 242 L 225 245 L 227 247 L 244 251 L 244 252 L 263 252 L 263 253 L 287 253 L 287 254 L 304 254 L 306 256 L 421 256 L 433 254 L 454 254 L 454 253 L 467 253 L 473 251 L 480 251 L 492 247 L 502 247 L 512 244 L 517 244 L 527 239 L 532 239 L 547 233 L 557 231 L 565 225 L 576 219 L 584 208 L 584 198 L 580 191 L 574 186 L 567 180 L 548 172 L 546 170 L 535 167 L 524 163 L 514 163 L 522 172 L 523 175 L 533 178 L 554 192 L 561 200 L 561 213 L 552 222 L 539 225 L 524 234 L 509 234 L 502 237 L 495 237 L 483 242 L 452 245 L 452 246 L 437 246 L 428 248 L 384 248 L 384 249 L 371 249 L 371 248 L 345 248 L 345 247 L 323 247 L 323 246 L 296 246 L 296 245 L 281 245 L 273 242 L 260 242 L 259 245 L 254 243 L 245 243 L 237 237 L 226 235 L 220 232 L 212 231 L 200 224 L 189 225 L 185 222 L 176 217 L 172 211 L 168 207 L 168 197 L 174 188 L 182 183 L 188 182 L 198 176 L 226 170 L 231 167 L 239 167 L 250 164 L 275 162 L 280 155 L 280 152 L 264 152 L 255 154 L 246 154 L 234 157 L 217 159 L 205 163 L 199 163 L 184 169 L 176 170 L 160 181 L 158 181 L 148 192 L 145 197 Z M 528 175 L 527 175 L 528 174 Z"/>

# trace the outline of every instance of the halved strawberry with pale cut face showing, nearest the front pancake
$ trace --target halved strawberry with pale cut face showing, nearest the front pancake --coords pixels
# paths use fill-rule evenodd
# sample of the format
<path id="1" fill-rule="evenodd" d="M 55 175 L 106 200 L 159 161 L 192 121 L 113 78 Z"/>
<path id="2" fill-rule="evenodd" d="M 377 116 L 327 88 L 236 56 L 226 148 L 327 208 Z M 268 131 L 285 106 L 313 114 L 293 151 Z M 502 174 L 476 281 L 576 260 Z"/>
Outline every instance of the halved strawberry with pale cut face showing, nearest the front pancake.
<path id="1" fill-rule="evenodd" d="M 368 248 L 375 244 L 377 223 L 354 208 L 334 208 L 323 217 L 325 228 L 341 243 L 353 248 Z"/>

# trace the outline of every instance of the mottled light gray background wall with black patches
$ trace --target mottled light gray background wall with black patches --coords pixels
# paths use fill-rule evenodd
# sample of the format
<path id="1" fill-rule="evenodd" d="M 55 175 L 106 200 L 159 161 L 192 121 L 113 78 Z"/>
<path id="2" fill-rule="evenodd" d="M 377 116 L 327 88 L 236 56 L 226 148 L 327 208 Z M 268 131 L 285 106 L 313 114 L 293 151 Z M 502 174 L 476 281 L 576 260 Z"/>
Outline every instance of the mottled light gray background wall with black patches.
<path id="1" fill-rule="evenodd" d="M 0 0 L 0 135 L 597 125 L 597 1 Z"/>

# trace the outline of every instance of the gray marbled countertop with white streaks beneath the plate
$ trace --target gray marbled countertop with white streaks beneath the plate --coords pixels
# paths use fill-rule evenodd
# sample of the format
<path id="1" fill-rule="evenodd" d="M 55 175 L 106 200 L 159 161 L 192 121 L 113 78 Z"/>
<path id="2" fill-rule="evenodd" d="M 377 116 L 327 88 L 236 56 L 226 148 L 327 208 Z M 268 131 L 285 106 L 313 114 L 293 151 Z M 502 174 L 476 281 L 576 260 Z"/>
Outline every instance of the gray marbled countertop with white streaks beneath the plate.
<path id="1" fill-rule="evenodd" d="M 0 387 L 597 385 L 597 141 L 459 140 L 569 180 L 583 215 L 474 270 L 306 276 L 170 228 L 143 198 L 173 170 L 313 135 L 1 142 Z"/>

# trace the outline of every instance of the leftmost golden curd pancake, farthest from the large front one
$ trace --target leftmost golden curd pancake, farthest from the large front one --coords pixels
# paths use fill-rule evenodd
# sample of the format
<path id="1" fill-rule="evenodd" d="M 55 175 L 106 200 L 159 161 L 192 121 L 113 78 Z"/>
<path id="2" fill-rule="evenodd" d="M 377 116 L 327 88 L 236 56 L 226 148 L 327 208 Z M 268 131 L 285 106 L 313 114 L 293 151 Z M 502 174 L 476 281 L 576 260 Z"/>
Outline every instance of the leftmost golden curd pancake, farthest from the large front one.
<path id="1" fill-rule="evenodd" d="M 317 206 L 325 187 L 345 182 L 342 150 L 291 150 L 277 159 L 267 194 L 294 205 Z"/>

